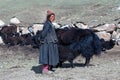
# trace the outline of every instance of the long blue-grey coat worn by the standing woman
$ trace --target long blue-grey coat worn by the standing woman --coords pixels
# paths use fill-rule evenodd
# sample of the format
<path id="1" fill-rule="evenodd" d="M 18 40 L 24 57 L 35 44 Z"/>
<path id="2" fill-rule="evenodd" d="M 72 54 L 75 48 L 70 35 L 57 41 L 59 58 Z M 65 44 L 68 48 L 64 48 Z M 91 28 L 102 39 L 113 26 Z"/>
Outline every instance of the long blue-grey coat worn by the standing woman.
<path id="1" fill-rule="evenodd" d="M 57 65 L 59 62 L 58 39 L 50 21 L 44 23 L 41 40 L 43 43 L 40 46 L 39 64 Z"/>

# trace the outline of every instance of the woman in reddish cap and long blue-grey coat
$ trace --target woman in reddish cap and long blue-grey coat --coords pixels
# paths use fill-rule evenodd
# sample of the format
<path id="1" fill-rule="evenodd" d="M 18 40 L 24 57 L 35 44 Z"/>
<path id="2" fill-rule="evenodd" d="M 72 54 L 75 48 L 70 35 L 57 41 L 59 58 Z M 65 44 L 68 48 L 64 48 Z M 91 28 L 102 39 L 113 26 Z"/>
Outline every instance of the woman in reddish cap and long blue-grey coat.
<path id="1" fill-rule="evenodd" d="M 59 62 L 58 39 L 52 24 L 54 20 L 55 14 L 50 10 L 47 11 L 47 19 L 40 35 L 39 64 L 42 64 L 42 73 L 51 72 L 52 67 Z"/>

